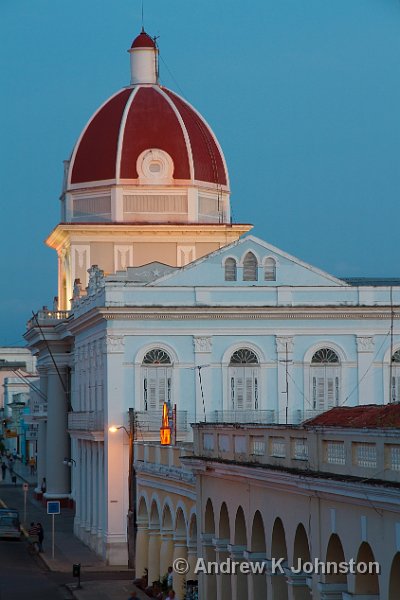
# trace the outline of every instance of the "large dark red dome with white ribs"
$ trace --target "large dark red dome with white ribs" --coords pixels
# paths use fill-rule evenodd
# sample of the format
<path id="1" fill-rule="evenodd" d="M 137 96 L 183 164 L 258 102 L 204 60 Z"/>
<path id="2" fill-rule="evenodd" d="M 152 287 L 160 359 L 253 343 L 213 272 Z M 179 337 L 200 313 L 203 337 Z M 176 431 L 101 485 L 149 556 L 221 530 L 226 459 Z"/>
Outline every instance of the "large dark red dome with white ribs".
<path id="1" fill-rule="evenodd" d="M 100 107 L 75 147 L 70 182 L 138 179 L 137 159 L 152 148 L 172 158 L 175 180 L 228 185 L 222 151 L 207 123 L 158 85 L 121 90 Z"/>

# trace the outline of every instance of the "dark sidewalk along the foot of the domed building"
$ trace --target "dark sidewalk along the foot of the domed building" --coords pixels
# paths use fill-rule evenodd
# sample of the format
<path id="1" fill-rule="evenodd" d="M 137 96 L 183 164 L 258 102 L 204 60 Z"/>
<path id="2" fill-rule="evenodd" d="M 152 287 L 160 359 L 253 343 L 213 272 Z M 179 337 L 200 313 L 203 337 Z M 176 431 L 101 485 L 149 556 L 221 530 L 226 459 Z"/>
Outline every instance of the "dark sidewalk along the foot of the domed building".
<path id="1" fill-rule="evenodd" d="M 132 591 L 136 591 L 137 598 L 148 600 L 148 596 L 141 590 L 132 585 L 133 571 L 126 566 L 106 565 L 90 548 L 85 546 L 73 534 L 72 509 L 62 508 L 60 515 L 55 515 L 55 537 L 54 537 L 54 558 L 52 557 L 52 517 L 47 514 L 46 505 L 36 500 L 34 496 L 34 487 L 37 484 L 36 475 L 30 474 L 30 468 L 16 461 L 14 473 L 17 475 L 17 485 L 10 486 L 11 478 L 7 472 L 4 483 L 7 487 L 0 485 L 0 497 L 12 497 L 12 504 L 20 511 L 21 521 L 24 518 L 24 493 L 22 483 L 29 484 L 26 505 L 26 529 L 31 521 L 43 524 L 45 531 L 44 552 L 39 557 L 50 571 L 57 571 L 70 574 L 66 577 L 68 589 L 77 600 L 128 600 Z M 9 503 L 10 505 L 10 503 Z M 77 579 L 72 577 L 72 565 L 80 563 L 81 565 L 81 585 L 82 589 L 76 590 Z M 93 579 L 90 574 L 93 573 Z M 94 574 L 101 573 L 103 579 L 96 580 Z M 105 578 L 105 579 L 104 579 Z"/>

